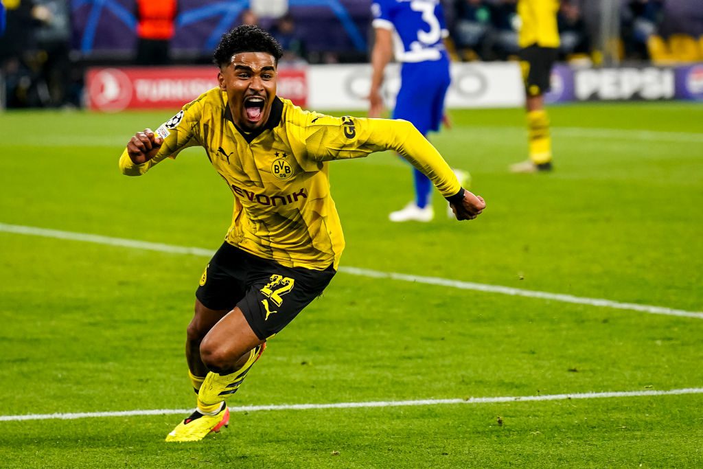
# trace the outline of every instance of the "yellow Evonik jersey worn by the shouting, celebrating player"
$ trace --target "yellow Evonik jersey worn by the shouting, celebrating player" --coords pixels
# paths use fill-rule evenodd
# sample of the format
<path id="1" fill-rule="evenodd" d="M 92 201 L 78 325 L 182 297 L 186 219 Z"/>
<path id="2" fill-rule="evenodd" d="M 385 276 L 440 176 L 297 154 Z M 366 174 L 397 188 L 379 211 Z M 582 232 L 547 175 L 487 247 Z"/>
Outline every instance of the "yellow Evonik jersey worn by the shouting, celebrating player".
<path id="1" fill-rule="evenodd" d="M 449 165 L 410 122 L 330 117 L 275 98 L 264 128 L 247 134 L 226 99 L 214 88 L 184 105 L 155 131 L 164 139 L 157 155 L 135 165 L 125 148 L 120 169 L 139 176 L 183 148 L 202 146 L 234 195 L 226 241 L 252 255 L 289 267 L 337 268 L 344 237 L 330 196 L 330 160 L 395 150 L 442 195 L 460 191 Z"/>

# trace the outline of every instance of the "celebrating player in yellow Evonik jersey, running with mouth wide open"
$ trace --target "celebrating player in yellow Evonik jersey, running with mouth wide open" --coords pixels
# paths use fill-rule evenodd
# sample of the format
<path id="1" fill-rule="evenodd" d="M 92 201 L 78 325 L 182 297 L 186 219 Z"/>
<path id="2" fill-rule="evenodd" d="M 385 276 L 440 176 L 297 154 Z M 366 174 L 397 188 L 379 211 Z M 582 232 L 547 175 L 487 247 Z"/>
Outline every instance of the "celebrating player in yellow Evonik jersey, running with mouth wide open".
<path id="1" fill-rule="evenodd" d="M 226 399 L 266 340 L 335 275 L 344 238 L 329 161 L 395 150 L 427 174 L 457 219 L 475 219 L 486 206 L 409 122 L 330 117 L 278 98 L 281 55 L 257 26 L 224 34 L 214 52 L 219 86 L 156 131 L 137 132 L 120 158 L 122 173 L 138 176 L 183 148 L 202 146 L 234 195 L 232 224 L 200 278 L 187 331 L 197 408 L 167 442 L 198 441 L 227 425 Z"/>

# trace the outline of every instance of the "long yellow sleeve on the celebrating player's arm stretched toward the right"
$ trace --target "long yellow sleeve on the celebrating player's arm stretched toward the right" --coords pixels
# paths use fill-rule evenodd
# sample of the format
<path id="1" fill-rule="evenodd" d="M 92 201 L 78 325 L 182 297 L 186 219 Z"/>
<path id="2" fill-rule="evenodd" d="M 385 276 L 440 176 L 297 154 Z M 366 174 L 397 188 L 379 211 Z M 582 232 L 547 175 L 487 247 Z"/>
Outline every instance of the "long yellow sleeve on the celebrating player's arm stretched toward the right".
<path id="1" fill-rule="evenodd" d="M 305 127 L 305 144 L 309 158 L 317 161 L 362 158 L 369 153 L 393 150 L 430 178 L 444 197 L 456 195 L 461 189 L 444 158 L 406 120 L 311 113 Z"/>

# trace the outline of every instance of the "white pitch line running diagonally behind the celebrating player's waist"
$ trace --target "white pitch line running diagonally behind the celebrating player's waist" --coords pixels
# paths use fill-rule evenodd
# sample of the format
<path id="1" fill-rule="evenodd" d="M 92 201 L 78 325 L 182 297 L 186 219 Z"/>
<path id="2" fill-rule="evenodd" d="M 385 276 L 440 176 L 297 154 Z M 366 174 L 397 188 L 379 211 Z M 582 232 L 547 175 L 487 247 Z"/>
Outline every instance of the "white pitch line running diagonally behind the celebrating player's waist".
<path id="1" fill-rule="evenodd" d="M 111 238 L 109 236 L 93 235 L 89 233 L 74 233 L 71 231 L 59 231 L 34 226 L 21 226 L 0 223 L 0 232 L 18 233 L 32 236 L 44 236 L 46 238 L 58 238 L 66 240 L 84 241 L 86 243 L 98 243 L 124 248 L 136 248 L 158 252 L 168 252 L 171 254 L 190 254 L 203 257 L 211 257 L 214 251 L 203 248 L 188 248 L 162 243 L 150 243 L 148 241 L 130 240 L 124 238 Z M 672 309 L 649 304 L 622 303 L 602 298 L 576 297 L 572 295 L 562 295 L 560 293 L 540 292 L 536 290 L 523 290 L 521 288 L 503 287 L 501 285 L 488 285 L 486 283 L 473 283 L 449 278 L 425 277 L 397 272 L 383 272 L 371 269 L 359 269 L 358 267 L 340 267 L 340 272 L 345 274 L 358 275 L 370 278 L 390 278 L 392 280 L 425 283 L 427 285 L 440 285 L 443 287 L 459 288 L 460 290 L 474 290 L 486 293 L 499 293 L 501 295 L 522 296 L 529 298 L 539 298 L 541 300 L 553 300 L 564 303 L 586 304 L 588 306 L 606 307 L 613 309 L 626 309 L 628 311 L 638 311 L 648 314 L 664 314 L 666 316 L 682 316 L 687 318 L 703 319 L 701 311 L 685 311 L 683 309 Z"/>

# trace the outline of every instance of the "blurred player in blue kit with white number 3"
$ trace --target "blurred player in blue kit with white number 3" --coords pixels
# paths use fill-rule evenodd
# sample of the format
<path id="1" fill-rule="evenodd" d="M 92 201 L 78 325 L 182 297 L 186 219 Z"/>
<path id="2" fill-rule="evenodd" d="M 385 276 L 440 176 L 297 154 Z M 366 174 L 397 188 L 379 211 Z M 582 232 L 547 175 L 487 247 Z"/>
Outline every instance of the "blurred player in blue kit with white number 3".
<path id="1" fill-rule="evenodd" d="M 402 63 L 401 88 L 392 117 L 412 122 L 421 134 L 438 131 L 444 117 L 444 96 L 451 82 L 449 54 L 444 37 L 449 35 L 439 0 L 375 0 L 371 6 L 375 44 L 371 51 L 369 117 L 383 110 L 381 86 L 384 70 L 393 56 Z M 454 169 L 462 184 L 468 173 Z M 392 212 L 391 221 L 430 221 L 432 183 L 413 168 L 415 200 Z"/>

